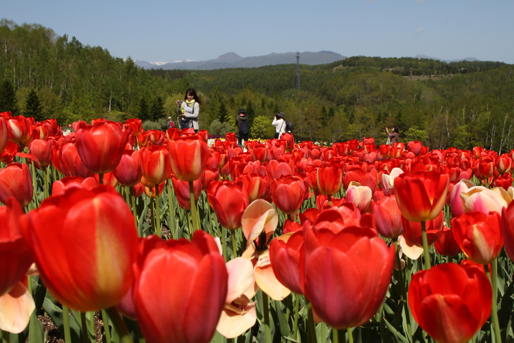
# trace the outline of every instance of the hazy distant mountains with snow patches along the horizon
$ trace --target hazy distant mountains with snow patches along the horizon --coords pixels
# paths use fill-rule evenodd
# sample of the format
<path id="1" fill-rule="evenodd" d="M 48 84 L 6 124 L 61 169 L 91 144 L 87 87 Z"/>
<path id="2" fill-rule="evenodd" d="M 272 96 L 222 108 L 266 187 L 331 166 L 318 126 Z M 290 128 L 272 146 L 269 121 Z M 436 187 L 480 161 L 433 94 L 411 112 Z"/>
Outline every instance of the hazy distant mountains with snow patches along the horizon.
<path id="1" fill-rule="evenodd" d="M 315 64 L 327 64 L 335 61 L 341 61 L 346 59 L 346 56 L 340 55 L 337 52 L 332 51 L 318 51 L 318 52 L 300 52 L 300 63 L 315 65 Z M 443 62 L 460 62 L 460 61 L 478 61 L 475 58 L 468 57 L 460 60 L 442 60 L 437 57 L 428 57 L 425 55 L 416 55 L 414 58 L 425 58 L 438 60 Z M 219 56 L 214 60 L 207 61 L 195 61 L 195 60 L 184 60 L 174 62 L 146 62 L 146 61 L 135 61 L 136 65 L 145 69 L 223 69 L 223 68 L 255 68 L 262 67 L 265 65 L 274 64 L 290 64 L 296 63 L 296 52 L 285 52 L 275 53 L 272 52 L 269 55 L 254 56 L 254 57 L 241 57 L 235 52 L 227 52 L 224 55 Z"/>

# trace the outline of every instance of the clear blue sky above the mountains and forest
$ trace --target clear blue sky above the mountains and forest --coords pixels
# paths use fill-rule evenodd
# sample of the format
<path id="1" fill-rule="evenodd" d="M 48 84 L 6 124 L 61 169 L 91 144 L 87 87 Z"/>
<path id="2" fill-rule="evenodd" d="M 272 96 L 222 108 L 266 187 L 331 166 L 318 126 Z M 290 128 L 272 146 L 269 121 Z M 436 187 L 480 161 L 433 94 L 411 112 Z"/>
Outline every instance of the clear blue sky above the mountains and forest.
<path id="1" fill-rule="evenodd" d="M 512 0 L 0 0 L 0 17 L 143 61 L 329 50 L 514 64 Z"/>

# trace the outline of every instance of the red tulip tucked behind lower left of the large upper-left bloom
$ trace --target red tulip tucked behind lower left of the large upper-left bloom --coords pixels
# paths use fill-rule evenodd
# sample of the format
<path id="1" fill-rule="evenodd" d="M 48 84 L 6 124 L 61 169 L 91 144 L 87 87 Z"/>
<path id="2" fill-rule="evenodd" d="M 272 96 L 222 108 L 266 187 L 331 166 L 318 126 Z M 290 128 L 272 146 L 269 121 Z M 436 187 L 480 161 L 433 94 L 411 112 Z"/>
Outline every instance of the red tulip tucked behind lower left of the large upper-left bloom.
<path id="1" fill-rule="evenodd" d="M 84 166 L 75 142 L 67 142 L 52 148 L 52 164 L 63 175 L 91 177 L 95 173 Z"/>

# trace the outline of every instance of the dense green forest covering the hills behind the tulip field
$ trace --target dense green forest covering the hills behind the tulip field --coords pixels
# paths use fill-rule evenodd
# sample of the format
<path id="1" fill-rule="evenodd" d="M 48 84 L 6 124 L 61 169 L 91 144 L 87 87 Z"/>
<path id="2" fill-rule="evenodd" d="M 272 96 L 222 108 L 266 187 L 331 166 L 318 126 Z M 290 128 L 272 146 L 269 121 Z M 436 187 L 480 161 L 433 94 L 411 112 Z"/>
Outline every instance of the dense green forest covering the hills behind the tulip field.
<path id="1" fill-rule="evenodd" d="M 300 57 L 301 61 L 301 57 Z M 514 65 L 501 62 L 350 57 L 323 65 L 217 70 L 145 70 L 130 58 L 83 45 L 38 24 L 0 21 L 0 111 L 61 124 L 139 117 L 146 128 L 176 117 L 188 87 L 201 100 L 200 127 L 234 130 L 244 107 L 250 135 L 271 138 L 282 111 L 299 140 L 330 143 L 398 125 L 400 140 L 432 149 L 509 151 L 514 138 Z"/>

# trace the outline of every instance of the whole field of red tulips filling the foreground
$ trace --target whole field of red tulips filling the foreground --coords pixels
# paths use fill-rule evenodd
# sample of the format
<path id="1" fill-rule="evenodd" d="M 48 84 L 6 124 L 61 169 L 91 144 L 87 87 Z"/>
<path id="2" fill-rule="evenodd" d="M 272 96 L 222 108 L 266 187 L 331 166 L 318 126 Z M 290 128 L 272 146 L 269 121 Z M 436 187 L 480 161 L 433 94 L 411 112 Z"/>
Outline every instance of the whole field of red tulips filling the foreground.
<path id="1" fill-rule="evenodd" d="M 72 128 L 0 113 L 2 343 L 514 341 L 514 150 Z"/>

